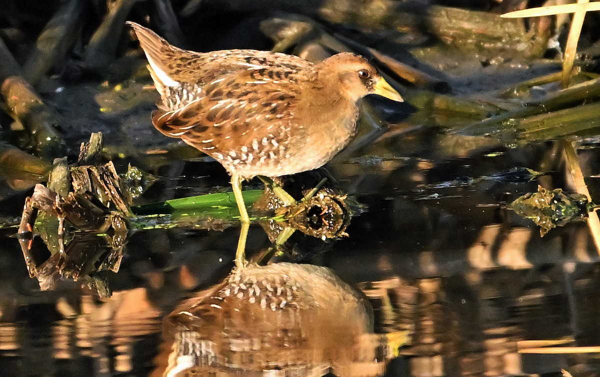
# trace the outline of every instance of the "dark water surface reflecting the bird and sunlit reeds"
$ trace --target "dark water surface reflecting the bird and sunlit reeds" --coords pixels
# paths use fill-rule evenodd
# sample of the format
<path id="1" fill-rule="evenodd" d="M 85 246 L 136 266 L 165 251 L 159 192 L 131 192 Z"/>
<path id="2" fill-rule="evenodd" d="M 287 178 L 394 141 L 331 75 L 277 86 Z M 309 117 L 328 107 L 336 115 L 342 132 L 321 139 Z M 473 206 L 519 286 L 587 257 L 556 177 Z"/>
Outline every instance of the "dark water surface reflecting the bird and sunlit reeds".
<path id="1" fill-rule="evenodd" d="M 401 146 L 413 136 L 386 143 Z M 232 269 L 235 226 L 134 232 L 119 273 L 107 275 L 113 295 L 103 300 L 76 282 L 40 291 L 28 277 L 14 229 L 2 230 L 0 375 L 158 376 L 166 369 L 178 375 L 186 363 L 197 366 L 194 375 L 206 376 L 321 376 L 329 366 L 341 376 L 560 376 L 561 369 L 598 375 L 595 353 L 520 352 L 537 347 L 523 343 L 529 340 L 560 341 L 554 346 L 600 342 L 599 257 L 585 223 L 554 229 L 541 239 L 538 228 L 503 207 L 535 191 L 538 181 L 514 168 L 548 166 L 542 164 L 548 144 L 497 147 L 452 159 L 430 150 L 418 157 L 414 150 L 381 153 L 328 167 L 366 210 L 352 219 L 349 237 L 337 242 L 295 236 L 296 259 L 332 273 L 298 273 L 304 300 L 319 304 L 298 298 L 292 307 L 280 300 L 286 309 L 277 318 L 263 318 L 259 301 L 244 306 L 250 295 L 219 302 L 233 313 L 226 319 L 211 312 L 210 303 L 208 309 L 194 307 L 211 289 L 215 295 L 211 287 L 223 284 Z M 594 171 L 596 155 L 593 143 L 581 152 L 586 174 Z M 559 186 L 564 179 L 556 171 L 548 168 L 540 179 Z M 170 162 L 152 173 L 162 178 L 147 201 L 227 187 L 215 162 Z M 594 178 L 589 183 L 593 195 L 598 186 Z M 19 216 L 26 194 L 2 201 L 3 218 Z M 248 254 L 269 246 L 265 231 L 253 224 Z M 325 283 L 331 279 L 337 288 Z M 365 300 L 368 308 L 361 309 Z M 373 322 L 367 315 L 371 307 Z M 240 310 L 245 316 L 235 319 Z M 193 318 L 182 312 L 193 312 Z M 359 339 L 365 331 L 370 340 Z M 394 352 L 382 334 L 402 334 L 406 340 L 396 343 L 402 346 L 391 361 Z M 218 349 L 227 350 L 224 358 Z M 356 349 L 363 349 L 360 357 L 367 352 L 368 362 L 357 361 Z M 239 372 L 241 365 L 261 360 L 271 363 L 271 370 Z"/>

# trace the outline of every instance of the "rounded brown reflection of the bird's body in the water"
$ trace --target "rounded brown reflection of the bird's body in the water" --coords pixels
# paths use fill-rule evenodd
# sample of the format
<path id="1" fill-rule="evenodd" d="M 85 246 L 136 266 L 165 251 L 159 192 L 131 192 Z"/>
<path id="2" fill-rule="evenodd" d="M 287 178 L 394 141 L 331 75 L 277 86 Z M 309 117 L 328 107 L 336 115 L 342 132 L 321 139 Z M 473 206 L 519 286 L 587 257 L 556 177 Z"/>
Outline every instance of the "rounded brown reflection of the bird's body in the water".
<path id="1" fill-rule="evenodd" d="M 165 324 L 167 376 L 378 376 L 389 357 L 367 298 L 307 264 L 236 269 Z"/>

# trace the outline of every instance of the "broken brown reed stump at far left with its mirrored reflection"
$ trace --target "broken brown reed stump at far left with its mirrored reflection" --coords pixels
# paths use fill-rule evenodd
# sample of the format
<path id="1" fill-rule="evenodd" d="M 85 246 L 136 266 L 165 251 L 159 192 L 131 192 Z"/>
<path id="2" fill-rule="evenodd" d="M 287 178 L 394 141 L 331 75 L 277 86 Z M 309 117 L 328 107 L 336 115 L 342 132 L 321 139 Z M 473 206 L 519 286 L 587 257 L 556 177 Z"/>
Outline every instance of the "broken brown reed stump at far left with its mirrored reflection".
<path id="1" fill-rule="evenodd" d="M 82 146 L 80 162 L 96 161 L 101 146 L 101 135 L 92 135 Z M 119 269 L 129 204 L 112 162 L 68 167 L 57 159 L 48 187 L 36 185 L 25 200 L 19 241 L 29 275 L 38 279 L 41 289 L 52 288 L 57 278 L 73 279 L 88 281 L 100 295 L 110 295 L 97 272 Z M 37 247 L 36 234 L 49 257 Z"/>

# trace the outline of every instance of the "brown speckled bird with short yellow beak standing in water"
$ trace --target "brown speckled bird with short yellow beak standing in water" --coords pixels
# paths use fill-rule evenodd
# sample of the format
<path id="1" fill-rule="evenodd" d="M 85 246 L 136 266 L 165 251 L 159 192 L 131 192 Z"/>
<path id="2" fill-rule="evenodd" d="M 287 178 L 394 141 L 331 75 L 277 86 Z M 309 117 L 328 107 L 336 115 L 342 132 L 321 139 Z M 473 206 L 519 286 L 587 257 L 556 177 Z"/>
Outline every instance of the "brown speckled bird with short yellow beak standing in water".
<path id="1" fill-rule="evenodd" d="M 367 59 L 353 53 L 313 64 L 261 50 L 193 52 L 135 22 L 127 24 L 161 97 L 152 113 L 155 128 L 211 156 L 232 177 L 244 225 L 237 266 L 245 261 L 250 224 L 244 180 L 322 167 L 355 135 L 362 97 L 403 101 Z"/>

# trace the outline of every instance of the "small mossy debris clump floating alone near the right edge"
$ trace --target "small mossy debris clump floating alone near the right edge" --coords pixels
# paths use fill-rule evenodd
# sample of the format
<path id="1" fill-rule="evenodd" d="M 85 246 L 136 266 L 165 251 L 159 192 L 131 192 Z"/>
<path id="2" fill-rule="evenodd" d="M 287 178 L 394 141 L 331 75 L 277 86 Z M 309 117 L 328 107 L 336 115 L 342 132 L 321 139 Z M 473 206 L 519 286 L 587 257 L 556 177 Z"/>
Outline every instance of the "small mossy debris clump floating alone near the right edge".
<path id="1" fill-rule="evenodd" d="M 532 219 L 543 237 L 549 230 L 563 227 L 571 221 L 583 220 L 596 208 L 585 195 L 565 194 L 562 189 L 548 190 L 538 186 L 538 192 L 528 193 L 513 201 L 509 209 Z"/>

